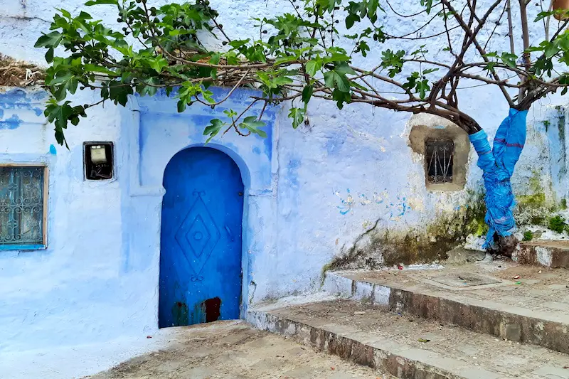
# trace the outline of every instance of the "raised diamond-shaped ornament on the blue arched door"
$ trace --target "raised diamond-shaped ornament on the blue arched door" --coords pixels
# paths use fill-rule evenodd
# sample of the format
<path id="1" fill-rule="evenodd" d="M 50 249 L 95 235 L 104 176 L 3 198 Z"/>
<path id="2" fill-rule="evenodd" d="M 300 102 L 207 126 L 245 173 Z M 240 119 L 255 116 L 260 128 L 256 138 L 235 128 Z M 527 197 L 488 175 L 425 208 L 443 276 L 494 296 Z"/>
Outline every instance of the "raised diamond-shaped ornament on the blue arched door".
<path id="1" fill-rule="evenodd" d="M 206 203 L 201 198 L 202 193 L 196 193 L 198 196 L 196 202 L 174 235 L 184 257 L 193 269 L 195 277 L 192 277 L 192 280 L 195 281 L 203 279 L 200 277 L 201 270 L 221 237 Z"/>

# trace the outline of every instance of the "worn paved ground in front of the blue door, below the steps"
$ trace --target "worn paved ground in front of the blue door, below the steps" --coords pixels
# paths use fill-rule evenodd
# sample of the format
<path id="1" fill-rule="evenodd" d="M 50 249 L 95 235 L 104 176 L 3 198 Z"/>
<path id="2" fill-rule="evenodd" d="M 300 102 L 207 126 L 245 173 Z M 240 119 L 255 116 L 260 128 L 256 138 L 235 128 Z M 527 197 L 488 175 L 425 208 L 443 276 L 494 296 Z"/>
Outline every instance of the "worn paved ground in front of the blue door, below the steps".
<path id="1" fill-rule="evenodd" d="M 90 379 L 392 379 L 243 321 L 176 328 L 166 348 Z"/>

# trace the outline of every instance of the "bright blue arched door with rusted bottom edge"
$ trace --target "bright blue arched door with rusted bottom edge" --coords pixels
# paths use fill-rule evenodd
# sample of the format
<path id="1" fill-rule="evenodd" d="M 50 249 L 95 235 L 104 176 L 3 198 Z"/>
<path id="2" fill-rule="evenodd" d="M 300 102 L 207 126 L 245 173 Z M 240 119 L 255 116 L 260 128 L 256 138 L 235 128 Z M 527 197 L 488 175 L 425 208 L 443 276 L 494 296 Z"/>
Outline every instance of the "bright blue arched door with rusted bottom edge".
<path id="1" fill-rule="evenodd" d="M 186 149 L 166 166 L 164 188 L 159 327 L 238 319 L 243 181 L 237 164 L 216 149 Z"/>

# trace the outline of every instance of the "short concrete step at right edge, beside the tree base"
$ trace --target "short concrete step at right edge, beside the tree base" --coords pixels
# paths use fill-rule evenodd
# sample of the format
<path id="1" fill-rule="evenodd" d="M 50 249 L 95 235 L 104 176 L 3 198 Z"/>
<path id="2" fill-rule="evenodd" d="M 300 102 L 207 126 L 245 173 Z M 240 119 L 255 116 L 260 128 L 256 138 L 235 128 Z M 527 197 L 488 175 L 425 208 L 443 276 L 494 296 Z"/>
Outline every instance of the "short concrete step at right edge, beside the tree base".
<path id="1" fill-rule="evenodd" d="M 524 265 L 569 269 L 569 241 L 521 242 L 513 258 Z"/>

